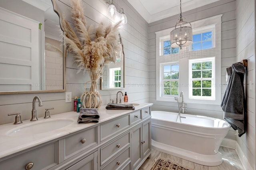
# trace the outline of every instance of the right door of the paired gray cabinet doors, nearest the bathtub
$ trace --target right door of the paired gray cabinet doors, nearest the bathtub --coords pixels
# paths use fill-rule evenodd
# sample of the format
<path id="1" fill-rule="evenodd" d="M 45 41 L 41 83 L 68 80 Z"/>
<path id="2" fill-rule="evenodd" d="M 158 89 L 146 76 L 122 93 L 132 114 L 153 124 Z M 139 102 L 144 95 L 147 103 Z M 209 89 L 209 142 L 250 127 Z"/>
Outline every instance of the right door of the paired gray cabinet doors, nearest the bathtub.
<path id="1" fill-rule="evenodd" d="M 147 154 L 151 150 L 151 133 L 150 133 L 150 127 L 151 127 L 151 120 L 145 121 L 142 123 L 142 154 L 143 158 L 147 156 Z"/>

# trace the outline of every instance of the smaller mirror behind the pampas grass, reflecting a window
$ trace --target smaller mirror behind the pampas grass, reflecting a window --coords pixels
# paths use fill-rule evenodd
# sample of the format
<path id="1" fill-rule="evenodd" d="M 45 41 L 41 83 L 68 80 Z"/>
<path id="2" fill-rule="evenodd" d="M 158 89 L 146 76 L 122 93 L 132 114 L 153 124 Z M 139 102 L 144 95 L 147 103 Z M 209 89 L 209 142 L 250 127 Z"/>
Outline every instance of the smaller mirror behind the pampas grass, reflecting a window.
<path id="1" fill-rule="evenodd" d="M 124 88 L 124 45 L 119 34 L 120 50 L 116 53 L 116 62 L 105 64 L 101 78 L 101 90 Z"/>

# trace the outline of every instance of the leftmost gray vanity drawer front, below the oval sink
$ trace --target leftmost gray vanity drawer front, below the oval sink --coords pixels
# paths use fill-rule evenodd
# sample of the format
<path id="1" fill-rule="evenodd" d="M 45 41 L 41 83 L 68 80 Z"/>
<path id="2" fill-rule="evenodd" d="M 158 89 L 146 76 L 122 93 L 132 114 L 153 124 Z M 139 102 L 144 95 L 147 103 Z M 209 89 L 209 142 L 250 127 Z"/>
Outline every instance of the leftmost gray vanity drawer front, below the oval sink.
<path id="1" fill-rule="evenodd" d="M 7 160 L 3 160 L 0 162 L 0 170 L 24 170 L 29 163 L 33 164 L 32 170 L 49 169 L 58 164 L 57 150 L 57 142 L 35 148 Z"/>

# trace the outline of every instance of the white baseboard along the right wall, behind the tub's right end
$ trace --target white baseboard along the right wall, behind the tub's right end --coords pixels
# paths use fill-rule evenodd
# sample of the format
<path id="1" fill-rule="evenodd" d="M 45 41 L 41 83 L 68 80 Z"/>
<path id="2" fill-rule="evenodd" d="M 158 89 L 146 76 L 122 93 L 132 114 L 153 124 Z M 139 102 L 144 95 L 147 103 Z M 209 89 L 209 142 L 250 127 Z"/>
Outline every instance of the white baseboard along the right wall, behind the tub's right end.
<path id="1" fill-rule="evenodd" d="M 253 170 L 252 166 L 244 155 L 244 152 L 235 140 L 224 138 L 220 146 L 235 149 L 240 161 L 242 162 L 242 165 L 244 166 L 244 169 Z"/>

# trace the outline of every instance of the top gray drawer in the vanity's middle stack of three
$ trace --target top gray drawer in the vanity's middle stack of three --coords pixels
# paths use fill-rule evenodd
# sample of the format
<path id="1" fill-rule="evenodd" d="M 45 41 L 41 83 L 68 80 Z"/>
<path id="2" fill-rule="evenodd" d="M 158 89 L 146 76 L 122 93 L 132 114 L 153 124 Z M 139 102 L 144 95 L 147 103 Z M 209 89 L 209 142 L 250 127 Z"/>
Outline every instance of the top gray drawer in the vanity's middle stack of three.
<path id="1" fill-rule="evenodd" d="M 108 123 L 100 125 L 100 141 L 104 141 L 111 135 L 125 131 L 130 127 L 130 117 L 126 115 Z"/>

